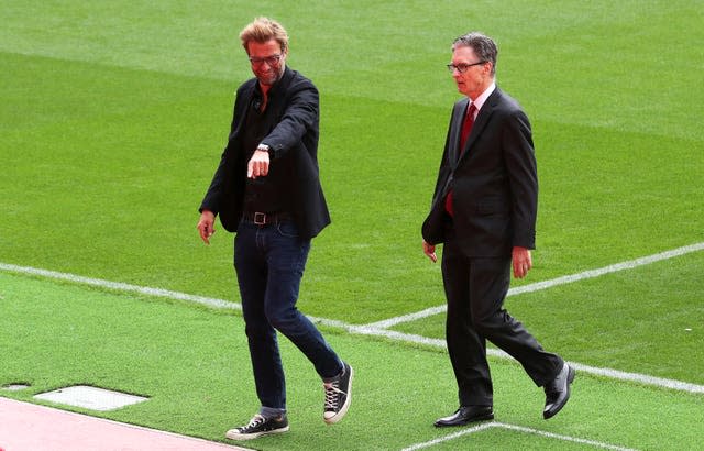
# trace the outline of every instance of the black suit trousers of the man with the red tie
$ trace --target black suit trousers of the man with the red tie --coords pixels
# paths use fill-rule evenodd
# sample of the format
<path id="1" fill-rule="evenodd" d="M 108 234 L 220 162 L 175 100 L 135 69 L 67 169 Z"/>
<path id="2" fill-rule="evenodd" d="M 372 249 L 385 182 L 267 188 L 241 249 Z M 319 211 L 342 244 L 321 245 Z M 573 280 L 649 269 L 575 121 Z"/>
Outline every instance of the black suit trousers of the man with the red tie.
<path id="1" fill-rule="evenodd" d="M 562 359 L 543 351 L 504 309 L 510 283 L 510 256 L 468 256 L 452 230 L 448 230 L 446 238 L 442 251 L 448 301 L 446 339 L 460 406 L 493 405 L 487 340 L 516 359 L 536 385 L 554 380 L 562 369 Z"/>

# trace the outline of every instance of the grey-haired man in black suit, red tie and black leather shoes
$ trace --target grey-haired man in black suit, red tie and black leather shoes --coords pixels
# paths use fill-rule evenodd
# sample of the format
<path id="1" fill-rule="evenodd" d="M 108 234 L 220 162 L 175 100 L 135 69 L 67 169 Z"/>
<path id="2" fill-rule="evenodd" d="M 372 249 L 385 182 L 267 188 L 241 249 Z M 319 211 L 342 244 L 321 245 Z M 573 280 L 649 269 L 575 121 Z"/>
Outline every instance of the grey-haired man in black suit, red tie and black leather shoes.
<path id="1" fill-rule="evenodd" d="M 528 118 L 496 87 L 496 55 L 493 40 L 469 33 L 454 41 L 448 65 L 465 98 L 452 111 L 422 237 L 432 262 L 443 243 L 446 338 L 460 408 L 437 427 L 494 418 L 486 340 L 544 388 L 546 419 L 565 405 L 574 380 L 574 370 L 504 309 L 512 266 L 521 278 L 532 265 L 538 177 Z"/>

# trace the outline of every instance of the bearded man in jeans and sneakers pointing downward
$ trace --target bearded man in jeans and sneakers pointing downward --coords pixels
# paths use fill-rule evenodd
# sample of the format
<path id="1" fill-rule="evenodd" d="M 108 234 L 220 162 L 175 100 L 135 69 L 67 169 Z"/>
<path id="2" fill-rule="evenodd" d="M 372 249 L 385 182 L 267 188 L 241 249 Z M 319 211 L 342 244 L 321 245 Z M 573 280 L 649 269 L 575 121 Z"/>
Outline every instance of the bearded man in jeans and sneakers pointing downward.
<path id="1" fill-rule="evenodd" d="M 288 35 L 258 18 L 241 33 L 254 78 L 237 92 L 228 144 L 200 205 L 209 244 L 215 218 L 237 232 L 234 266 L 260 411 L 226 437 L 248 440 L 288 430 L 278 330 L 323 381 L 323 420 L 338 422 L 351 400 L 352 367 L 297 308 L 310 242 L 330 216 L 318 177 L 318 90 L 286 66 Z"/>

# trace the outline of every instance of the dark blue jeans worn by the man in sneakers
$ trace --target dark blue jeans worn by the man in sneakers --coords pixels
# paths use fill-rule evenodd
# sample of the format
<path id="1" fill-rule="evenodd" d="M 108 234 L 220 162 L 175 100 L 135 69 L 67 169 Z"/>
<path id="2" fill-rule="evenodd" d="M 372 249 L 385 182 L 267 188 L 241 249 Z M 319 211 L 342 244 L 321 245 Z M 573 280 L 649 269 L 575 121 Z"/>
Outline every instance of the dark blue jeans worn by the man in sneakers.
<path id="1" fill-rule="evenodd" d="M 286 409 L 286 382 L 276 331 L 288 338 L 322 378 L 342 363 L 314 323 L 296 308 L 310 240 L 294 222 L 257 226 L 242 221 L 234 240 L 234 267 L 250 345 L 256 394 L 263 407 Z"/>

